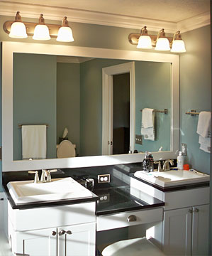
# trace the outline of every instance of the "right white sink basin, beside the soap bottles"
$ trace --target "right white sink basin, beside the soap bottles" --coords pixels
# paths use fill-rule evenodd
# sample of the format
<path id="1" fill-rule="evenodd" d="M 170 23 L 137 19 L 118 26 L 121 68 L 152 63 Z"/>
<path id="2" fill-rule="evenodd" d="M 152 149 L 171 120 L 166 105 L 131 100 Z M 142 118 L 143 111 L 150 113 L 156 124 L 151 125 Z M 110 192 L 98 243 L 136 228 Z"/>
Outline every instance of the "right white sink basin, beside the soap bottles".
<path id="1" fill-rule="evenodd" d="M 201 174 L 197 171 L 171 170 L 171 171 L 136 171 L 135 177 L 141 178 L 150 183 L 157 184 L 162 187 L 177 186 L 181 184 L 198 183 L 209 181 L 210 176 Z"/>

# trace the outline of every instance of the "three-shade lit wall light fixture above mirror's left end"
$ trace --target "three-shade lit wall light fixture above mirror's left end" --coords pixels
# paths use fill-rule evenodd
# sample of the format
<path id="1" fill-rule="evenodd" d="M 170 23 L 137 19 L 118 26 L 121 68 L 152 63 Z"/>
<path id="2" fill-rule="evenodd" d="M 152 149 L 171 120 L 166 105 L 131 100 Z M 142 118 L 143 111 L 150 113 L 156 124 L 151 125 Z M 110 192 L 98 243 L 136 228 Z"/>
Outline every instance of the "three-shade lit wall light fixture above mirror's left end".
<path id="1" fill-rule="evenodd" d="M 18 25 L 16 25 L 16 23 L 18 23 Z M 19 27 L 21 27 L 22 30 L 18 29 Z M 57 24 L 45 24 L 43 14 L 40 14 L 38 23 L 22 22 L 19 11 L 17 11 L 15 21 L 6 21 L 3 28 L 4 31 L 13 38 L 27 38 L 27 36 L 33 36 L 34 40 L 41 41 L 50 40 L 50 38 L 57 38 L 57 41 L 60 42 L 74 41 L 72 29 L 68 26 L 67 17 L 63 18 L 62 26 Z M 25 33 L 23 33 L 23 28 L 25 28 Z"/>

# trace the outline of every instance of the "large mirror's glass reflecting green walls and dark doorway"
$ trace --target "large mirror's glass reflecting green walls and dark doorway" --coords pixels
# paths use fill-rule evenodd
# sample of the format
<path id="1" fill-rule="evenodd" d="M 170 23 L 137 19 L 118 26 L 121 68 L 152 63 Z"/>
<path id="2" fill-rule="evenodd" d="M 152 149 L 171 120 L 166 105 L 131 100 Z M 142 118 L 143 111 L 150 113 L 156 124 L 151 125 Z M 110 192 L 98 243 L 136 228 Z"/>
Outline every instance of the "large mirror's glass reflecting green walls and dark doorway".
<path id="1" fill-rule="evenodd" d="M 21 160 L 23 145 L 38 139 L 27 135 L 18 124 L 47 124 L 46 158 L 57 158 L 58 145 L 68 139 L 71 156 L 99 156 L 102 152 L 102 69 L 132 60 L 101 58 L 58 58 L 55 55 L 13 55 L 13 159 Z M 141 135 L 144 108 L 168 109 L 155 112 L 155 139 L 135 140 L 137 151 L 170 150 L 171 64 L 135 61 L 135 134 Z M 129 74 L 113 75 L 113 154 L 130 150 Z M 29 136 L 29 137 L 28 137 Z M 65 137 L 65 138 L 63 138 Z M 141 144 L 138 144 L 141 143 Z M 68 143 L 63 143 L 70 149 Z M 63 150 L 62 150 L 63 151 Z M 59 156 L 62 157 L 62 156 Z M 28 157 L 30 158 L 30 157 Z M 45 158 L 44 157 L 38 157 Z M 33 157 L 36 159 L 36 157 Z"/>

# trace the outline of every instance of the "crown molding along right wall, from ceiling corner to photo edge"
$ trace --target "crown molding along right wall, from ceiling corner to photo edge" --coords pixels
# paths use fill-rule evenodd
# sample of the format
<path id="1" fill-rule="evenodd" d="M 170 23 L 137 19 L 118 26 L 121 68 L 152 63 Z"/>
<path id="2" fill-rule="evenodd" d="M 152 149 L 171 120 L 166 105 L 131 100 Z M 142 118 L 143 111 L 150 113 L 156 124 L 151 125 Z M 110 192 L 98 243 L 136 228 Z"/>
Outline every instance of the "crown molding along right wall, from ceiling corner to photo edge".
<path id="1" fill-rule="evenodd" d="M 211 24 L 211 16 L 210 12 L 207 11 L 198 16 L 194 16 L 192 18 L 186 18 L 184 21 L 179 21 L 177 23 L 177 30 L 181 33 L 191 31 L 196 28 L 201 28 L 203 26 L 207 26 Z"/>

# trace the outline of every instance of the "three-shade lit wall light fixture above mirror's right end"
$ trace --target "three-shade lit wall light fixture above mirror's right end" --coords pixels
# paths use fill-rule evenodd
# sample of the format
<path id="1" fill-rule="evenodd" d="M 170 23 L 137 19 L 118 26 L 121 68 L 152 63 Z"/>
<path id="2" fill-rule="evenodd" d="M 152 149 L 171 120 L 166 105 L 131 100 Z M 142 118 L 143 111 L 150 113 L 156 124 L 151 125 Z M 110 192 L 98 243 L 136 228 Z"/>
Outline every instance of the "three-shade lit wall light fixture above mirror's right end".
<path id="1" fill-rule="evenodd" d="M 145 37 L 144 37 L 145 36 Z M 144 39 L 143 39 L 144 38 Z M 141 49 L 151 49 L 155 47 L 155 50 L 170 50 L 172 53 L 184 53 L 186 52 L 184 41 L 179 31 L 174 34 L 174 37 L 166 36 L 164 28 L 162 28 L 157 36 L 148 35 L 147 27 L 144 26 L 139 33 L 130 33 L 128 41 Z M 151 41 L 151 46 L 150 46 Z M 147 43 L 148 42 L 148 43 Z"/>

